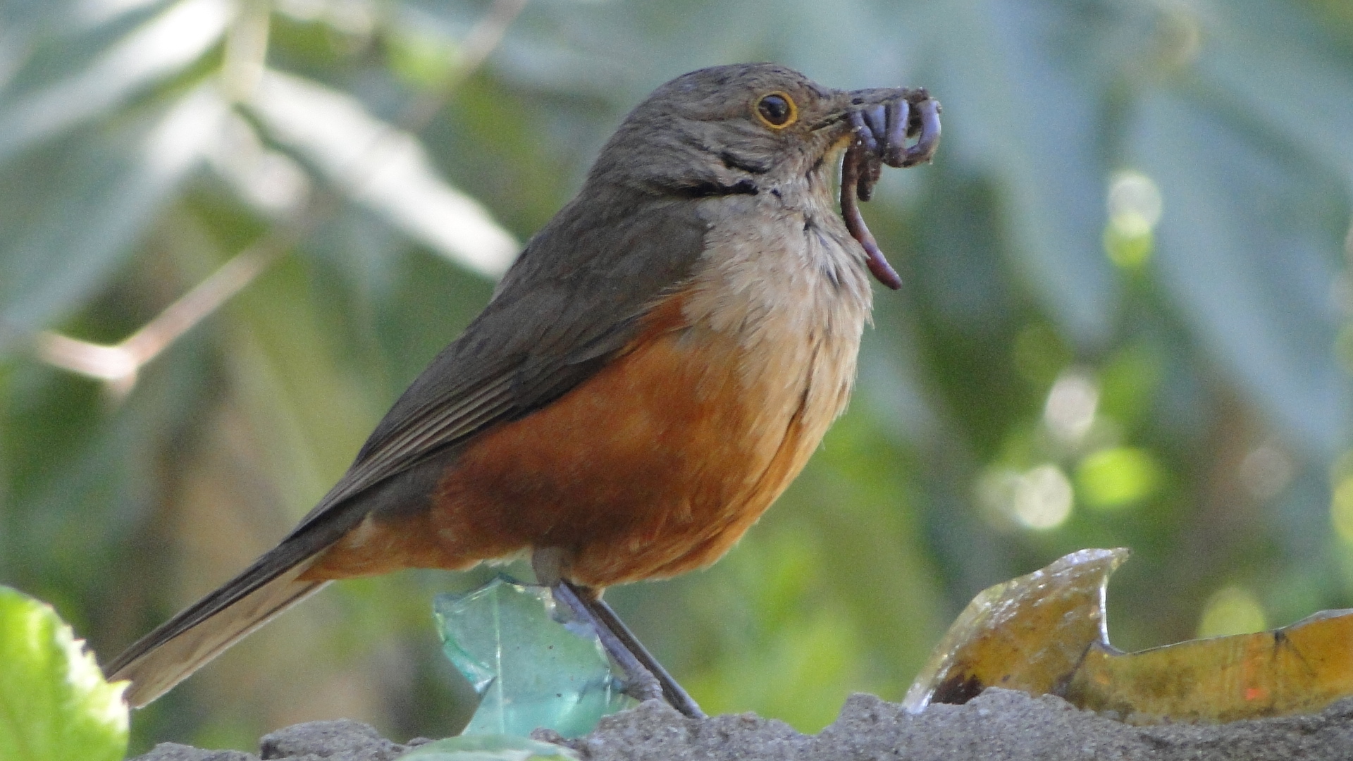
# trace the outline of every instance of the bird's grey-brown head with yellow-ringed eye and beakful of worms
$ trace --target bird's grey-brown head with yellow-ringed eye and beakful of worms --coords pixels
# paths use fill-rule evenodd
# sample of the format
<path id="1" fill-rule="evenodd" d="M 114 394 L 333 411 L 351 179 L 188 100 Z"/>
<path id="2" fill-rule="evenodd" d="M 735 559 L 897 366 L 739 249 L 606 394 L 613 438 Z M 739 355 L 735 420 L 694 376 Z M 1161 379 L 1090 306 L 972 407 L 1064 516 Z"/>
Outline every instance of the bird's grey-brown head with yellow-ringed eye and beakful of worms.
<path id="1" fill-rule="evenodd" d="M 855 199 L 869 199 L 882 164 L 928 161 L 938 116 L 924 89 L 840 91 L 775 64 L 713 66 L 671 80 L 630 111 L 589 183 L 655 198 L 809 194 L 827 206 L 846 150 L 842 213 L 874 275 L 898 287 Z"/>

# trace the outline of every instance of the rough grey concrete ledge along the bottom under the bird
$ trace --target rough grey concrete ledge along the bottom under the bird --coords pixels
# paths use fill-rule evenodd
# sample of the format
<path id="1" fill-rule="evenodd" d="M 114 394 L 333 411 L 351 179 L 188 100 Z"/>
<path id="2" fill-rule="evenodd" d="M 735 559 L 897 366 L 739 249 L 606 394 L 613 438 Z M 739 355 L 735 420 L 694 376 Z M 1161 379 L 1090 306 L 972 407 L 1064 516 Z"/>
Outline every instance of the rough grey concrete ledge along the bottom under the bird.
<path id="1" fill-rule="evenodd" d="M 651 701 L 560 742 L 587 761 L 1349 761 L 1353 699 L 1311 716 L 1132 727 L 1057 697 L 1004 689 L 917 716 L 855 695 L 817 735 L 754 714 L 685 719 Z M 265 735 L 257 756 L 164 743 L 135 761 L 391 761 L 407 747 L 357 722 L 311 722 Z"/>

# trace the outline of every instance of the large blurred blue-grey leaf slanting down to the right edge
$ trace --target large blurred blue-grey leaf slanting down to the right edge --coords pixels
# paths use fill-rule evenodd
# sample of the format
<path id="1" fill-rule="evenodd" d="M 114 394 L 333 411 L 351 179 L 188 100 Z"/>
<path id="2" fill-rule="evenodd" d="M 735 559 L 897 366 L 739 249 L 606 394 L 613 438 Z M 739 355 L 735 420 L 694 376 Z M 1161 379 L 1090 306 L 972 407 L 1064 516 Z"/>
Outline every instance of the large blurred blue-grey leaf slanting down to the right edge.
<path id="1" fill-rule="evenodd" d="M 1349 395 L 1330 303 L 1344 227 L 1330 218 L 1348 223 L 1348 196 L 1185 100 L 1161 95 L 1142 111 L 1137 153 L 1165 199 L 1162 286 L 1241 387 L 1295 441 L 1333 456 L 1348 437 Z"/>

